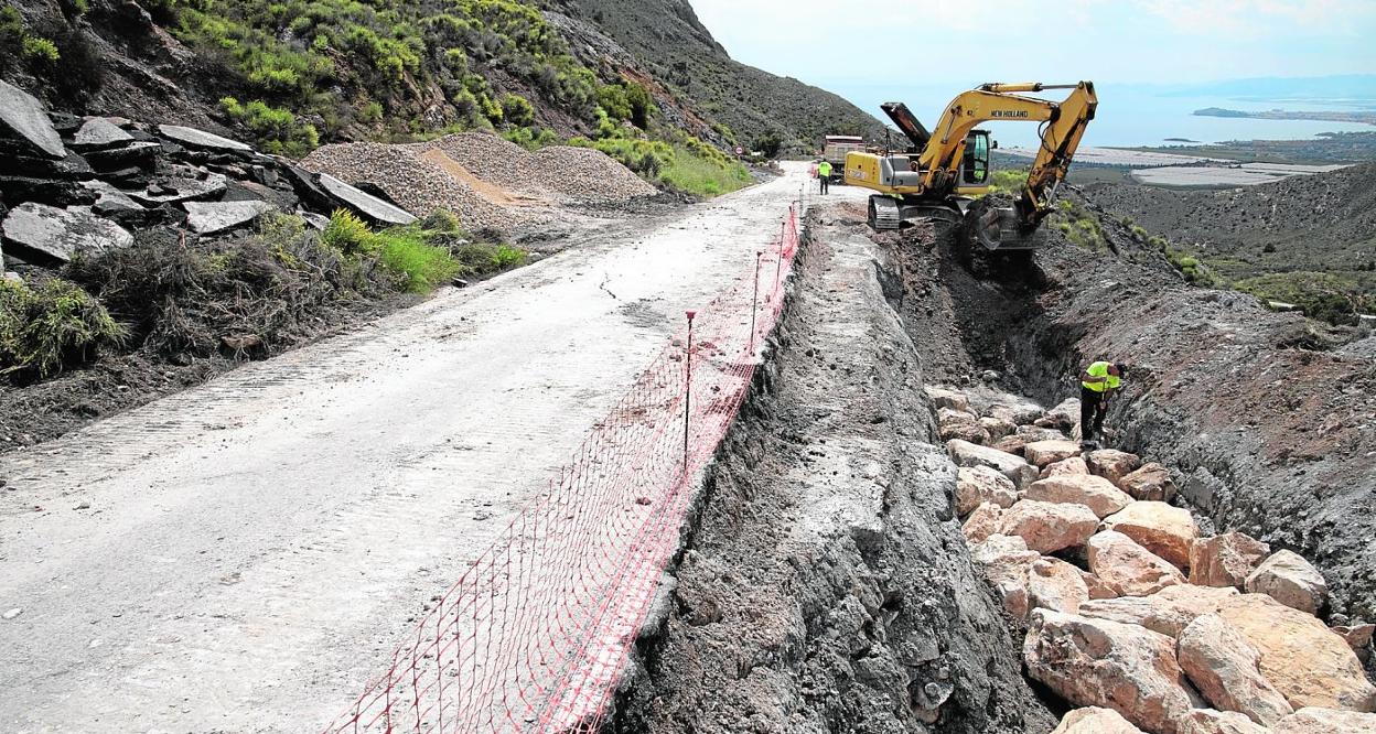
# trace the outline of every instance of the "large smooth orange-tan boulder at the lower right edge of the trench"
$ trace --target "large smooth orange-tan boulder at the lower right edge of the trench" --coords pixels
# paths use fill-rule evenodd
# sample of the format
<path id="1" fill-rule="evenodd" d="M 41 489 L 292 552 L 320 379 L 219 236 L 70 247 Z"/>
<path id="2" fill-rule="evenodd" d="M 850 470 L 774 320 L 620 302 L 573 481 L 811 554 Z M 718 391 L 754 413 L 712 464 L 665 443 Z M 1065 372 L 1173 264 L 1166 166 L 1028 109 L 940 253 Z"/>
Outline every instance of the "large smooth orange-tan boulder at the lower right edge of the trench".
<path id="1" fill-rule="evenodd" d="M 1376 687 L 1357 654 L 1311 614 L 1262 594 L 1240 594 L 1219 605 L 1219 616 L 1256 647 L 1262 675 L 1295 709 L 1376 709 Z"/>

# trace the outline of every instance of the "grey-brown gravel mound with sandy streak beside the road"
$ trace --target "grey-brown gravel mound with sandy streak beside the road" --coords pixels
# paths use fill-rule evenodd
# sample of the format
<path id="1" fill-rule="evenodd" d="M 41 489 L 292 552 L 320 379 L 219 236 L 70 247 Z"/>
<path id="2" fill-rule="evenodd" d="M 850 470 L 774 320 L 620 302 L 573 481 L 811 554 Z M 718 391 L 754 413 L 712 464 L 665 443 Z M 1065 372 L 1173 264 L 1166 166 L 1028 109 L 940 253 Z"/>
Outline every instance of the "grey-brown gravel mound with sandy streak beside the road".
<path id="1" fill-rule="evenodd" d="M 477 181 L 464 180 L 464 170 L 438 164 L 432 151 L 443 153 Z M 623 202 L 658 194 L 603 153 L 568 146 L 531 153 L 487 133 L 409 144 L 332 144 L 311 153 L 301 164 L 350 183 L 376 184 L 420 216 L 449 209 L 473 228 L 510 230 L 553 219 L 555 206 Z"/>

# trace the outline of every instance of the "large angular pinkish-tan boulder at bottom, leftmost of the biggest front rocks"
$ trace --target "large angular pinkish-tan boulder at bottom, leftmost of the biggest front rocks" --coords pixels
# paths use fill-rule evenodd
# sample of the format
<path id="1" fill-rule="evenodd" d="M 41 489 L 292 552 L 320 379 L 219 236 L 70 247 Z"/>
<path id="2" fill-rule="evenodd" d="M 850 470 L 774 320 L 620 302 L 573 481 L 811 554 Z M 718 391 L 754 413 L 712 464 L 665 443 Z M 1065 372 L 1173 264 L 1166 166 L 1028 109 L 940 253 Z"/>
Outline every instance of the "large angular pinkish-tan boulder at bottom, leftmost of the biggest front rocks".
<path id="1" fill-rule="evenodd" d="M 1152 733 L 1179 734 L 1194 708 L 1175 641 L 1132 624 L 1032 612 L 1028 674 L 1077 707 L 1105 707 Z"/>

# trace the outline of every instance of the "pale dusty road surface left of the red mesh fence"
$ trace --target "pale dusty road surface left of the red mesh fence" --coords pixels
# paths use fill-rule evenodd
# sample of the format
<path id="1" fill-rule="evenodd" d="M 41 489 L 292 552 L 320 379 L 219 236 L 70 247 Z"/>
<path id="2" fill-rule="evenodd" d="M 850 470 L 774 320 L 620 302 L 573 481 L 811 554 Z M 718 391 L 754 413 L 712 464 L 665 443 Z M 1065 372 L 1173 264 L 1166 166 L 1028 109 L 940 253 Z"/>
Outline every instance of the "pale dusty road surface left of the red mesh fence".
<path id="1" fill-rule="evenodd" d="M 804 176 L 0 458 L 0 730 L 326 724 Z"/>

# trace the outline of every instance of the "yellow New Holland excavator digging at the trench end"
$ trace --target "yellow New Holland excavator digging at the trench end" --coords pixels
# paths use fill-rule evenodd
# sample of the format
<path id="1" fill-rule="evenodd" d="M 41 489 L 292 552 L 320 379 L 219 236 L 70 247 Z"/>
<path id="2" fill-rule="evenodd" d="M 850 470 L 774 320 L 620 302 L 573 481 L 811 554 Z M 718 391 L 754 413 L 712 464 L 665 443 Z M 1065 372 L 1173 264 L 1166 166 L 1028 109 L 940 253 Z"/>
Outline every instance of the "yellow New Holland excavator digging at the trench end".
<path id="1" fill-rule="evenodd" d="M 1061 102 L 1020 92 L 1073 89 Z M 1042 220 L 1051 213 L 1055 188 L 1094 120 L 1094 82 L 984 84 L 951 100 L 929 132 L 901 102 L 881 109 L 912 143 L 907 151 L 849 153 L 845 181 L 878 194 L 870 197 L 870 225 L 897 230 L 916 220 L 959 228 L 969 245 L 991 252 L 1032 250 Z M 1028 183 L 1013 206 L 998 206 L 989 192 L 989 132 L 982 122 L 1040 122 L 1040 147 Z"/>

